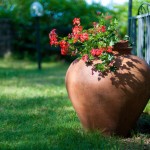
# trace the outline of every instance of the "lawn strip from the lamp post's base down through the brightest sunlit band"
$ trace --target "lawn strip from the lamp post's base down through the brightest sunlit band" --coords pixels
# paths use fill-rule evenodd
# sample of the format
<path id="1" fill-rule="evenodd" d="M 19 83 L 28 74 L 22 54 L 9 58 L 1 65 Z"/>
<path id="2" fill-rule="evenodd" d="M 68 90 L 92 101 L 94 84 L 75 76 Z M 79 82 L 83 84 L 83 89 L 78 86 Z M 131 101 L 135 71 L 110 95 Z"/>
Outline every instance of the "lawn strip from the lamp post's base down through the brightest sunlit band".
<path id="1" fill-rule="evenodd" d="M 20 100 L 46 96 L 67 95 L 63 63 L 43 63 L 37 70 L 36 63 L 24 61 L 2 61 L 0 63 L 0 97 Z"/>

